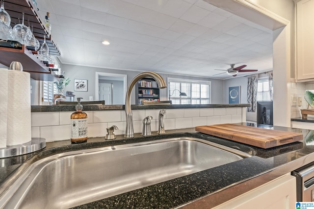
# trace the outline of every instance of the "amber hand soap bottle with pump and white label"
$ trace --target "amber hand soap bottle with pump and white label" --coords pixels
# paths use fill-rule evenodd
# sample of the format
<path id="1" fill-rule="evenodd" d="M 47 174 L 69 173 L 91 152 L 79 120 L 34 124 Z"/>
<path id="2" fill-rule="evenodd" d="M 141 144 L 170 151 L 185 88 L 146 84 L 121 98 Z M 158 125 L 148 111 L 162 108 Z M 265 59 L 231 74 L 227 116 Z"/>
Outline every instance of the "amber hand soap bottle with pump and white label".
<path id="1" fill-rule="evenodd" d="M 71 114 L 71 143 L 82 143 L 87 141 L 87 114 L 82 112 L 80 104 L 81 97 L 78 97 L 76 110 Z"/>

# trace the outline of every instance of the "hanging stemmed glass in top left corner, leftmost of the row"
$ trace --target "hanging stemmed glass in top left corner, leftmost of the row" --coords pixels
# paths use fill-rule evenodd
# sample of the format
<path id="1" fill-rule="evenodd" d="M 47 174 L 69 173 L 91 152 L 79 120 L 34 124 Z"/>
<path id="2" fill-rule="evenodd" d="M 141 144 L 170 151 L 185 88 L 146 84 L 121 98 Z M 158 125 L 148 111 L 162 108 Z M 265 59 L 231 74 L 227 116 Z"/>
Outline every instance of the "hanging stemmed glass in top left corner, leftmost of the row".
<path id="1" fill-rule="evenodd" d="M 11 39 L 12 38 L 12 27 L 10 25 L 11 17 L 4 10 L 4 1 L 1 0 L 0 7 L 0 39 Z"/>

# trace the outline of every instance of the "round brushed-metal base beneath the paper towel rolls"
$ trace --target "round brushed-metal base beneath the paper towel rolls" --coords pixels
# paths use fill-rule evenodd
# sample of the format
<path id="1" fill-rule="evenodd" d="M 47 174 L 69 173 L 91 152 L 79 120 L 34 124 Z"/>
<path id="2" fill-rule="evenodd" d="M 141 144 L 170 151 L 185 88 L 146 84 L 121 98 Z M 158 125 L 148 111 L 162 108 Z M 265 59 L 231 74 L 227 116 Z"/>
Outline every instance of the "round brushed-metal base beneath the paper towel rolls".
<path id="1" fill-rule="evenodd" d="M 38 151 L 46 147 L 46 139 L 31 138 L 30 141 L 12 146 L 0 148 L 0 158 L 8 158 L 18 155 L 25 155 L 31 152 Z"/>

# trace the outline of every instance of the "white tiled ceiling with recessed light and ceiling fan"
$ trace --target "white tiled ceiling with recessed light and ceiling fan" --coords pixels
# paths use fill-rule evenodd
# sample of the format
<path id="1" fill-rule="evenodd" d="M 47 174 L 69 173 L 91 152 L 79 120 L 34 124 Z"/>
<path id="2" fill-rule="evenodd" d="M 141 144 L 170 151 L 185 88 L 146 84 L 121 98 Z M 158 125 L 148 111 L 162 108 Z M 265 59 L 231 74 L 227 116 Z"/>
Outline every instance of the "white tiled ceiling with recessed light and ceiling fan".
<path id="1" fill-rule="evenodd" d="M 226 79 L 272 69 L 272 31 L 203 0 L 40 0 L 62 63 Z M 108 40 L 110 45 L 102 45 Z M 238 76 L 247 73 L 238 73 Z"/>

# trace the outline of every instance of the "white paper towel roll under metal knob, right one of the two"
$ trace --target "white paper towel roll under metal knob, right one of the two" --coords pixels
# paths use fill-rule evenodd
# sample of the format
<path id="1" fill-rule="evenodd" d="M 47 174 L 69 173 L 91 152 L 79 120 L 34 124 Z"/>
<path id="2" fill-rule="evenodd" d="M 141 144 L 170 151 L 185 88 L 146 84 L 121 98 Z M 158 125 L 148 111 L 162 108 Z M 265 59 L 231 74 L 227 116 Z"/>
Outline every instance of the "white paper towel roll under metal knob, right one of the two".
<path id="1" fill-rule="evenodd" d="M 31 140 L 30 74 L 8 70 L 7 146 Z"/>

